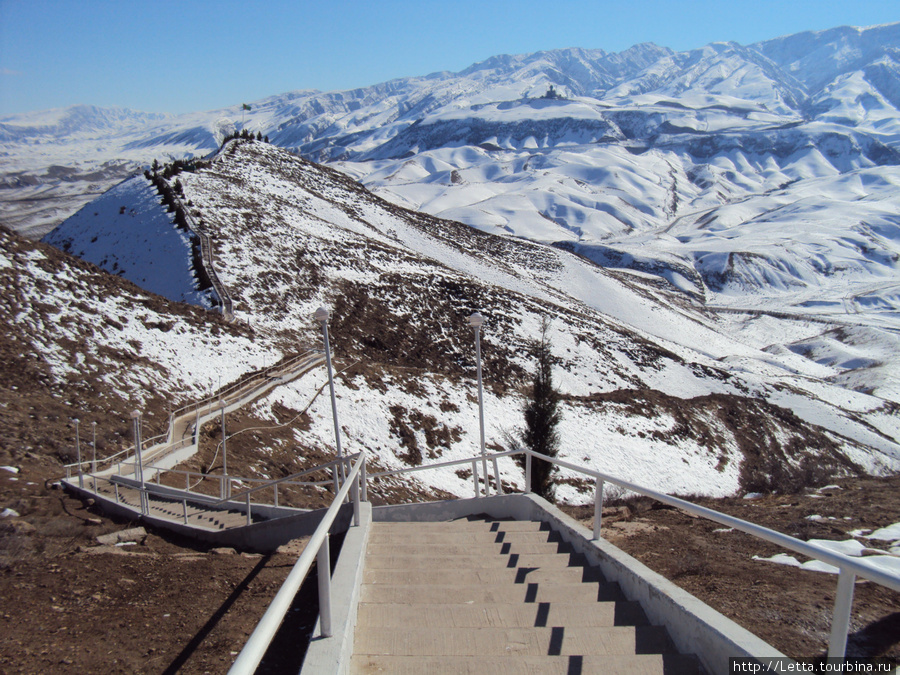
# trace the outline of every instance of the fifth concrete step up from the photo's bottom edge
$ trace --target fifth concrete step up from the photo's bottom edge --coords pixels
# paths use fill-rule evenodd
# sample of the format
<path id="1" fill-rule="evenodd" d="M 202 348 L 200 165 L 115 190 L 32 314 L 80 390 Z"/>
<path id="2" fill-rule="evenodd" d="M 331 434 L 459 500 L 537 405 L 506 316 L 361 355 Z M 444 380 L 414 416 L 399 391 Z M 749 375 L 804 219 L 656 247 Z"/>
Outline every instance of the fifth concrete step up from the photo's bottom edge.
<path id="1" fill-rule="evenodd" d="M 450 567 L 432 569 L 379 569 L 367 567 L 364 584 L 443 584 L 457 586 L 526 585 L 529 583 L 571 583 L 595 581 L 584 567 Z"/>

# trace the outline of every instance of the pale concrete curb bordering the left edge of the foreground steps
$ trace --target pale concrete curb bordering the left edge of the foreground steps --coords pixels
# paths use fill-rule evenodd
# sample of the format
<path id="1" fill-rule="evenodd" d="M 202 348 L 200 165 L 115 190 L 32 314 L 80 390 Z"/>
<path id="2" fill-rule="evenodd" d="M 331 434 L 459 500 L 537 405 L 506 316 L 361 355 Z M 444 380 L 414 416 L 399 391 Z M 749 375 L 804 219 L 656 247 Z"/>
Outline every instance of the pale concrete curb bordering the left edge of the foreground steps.
<path id="1" fill-rule="evenodd" d="M 344 536 L 341 553 L 331 577 L 330 638 L 314 637 L 310 640 L 301 675 L 319 673 L 347 673 L 353 656 L 353 638 L 359 609 L 359 594 L 365 569 L 366 546 L 372 524 L 372 505 L 359 505 L 359 527 L 350 527 Z M 319 622 L 313 635 L 319 635 Z"/>

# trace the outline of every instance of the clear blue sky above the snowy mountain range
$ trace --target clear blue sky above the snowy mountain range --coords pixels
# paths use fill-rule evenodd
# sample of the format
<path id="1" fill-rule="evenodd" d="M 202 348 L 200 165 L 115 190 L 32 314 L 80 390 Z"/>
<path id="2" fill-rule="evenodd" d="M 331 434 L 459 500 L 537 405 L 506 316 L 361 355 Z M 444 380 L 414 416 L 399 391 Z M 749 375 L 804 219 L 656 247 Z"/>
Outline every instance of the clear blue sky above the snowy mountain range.
<path id="1" fill-rule="evenodd" d="M 898 0 L 0 0 L 0 115 L 209 110 L 495 54 L 684 50 L 895 21 Z"/>

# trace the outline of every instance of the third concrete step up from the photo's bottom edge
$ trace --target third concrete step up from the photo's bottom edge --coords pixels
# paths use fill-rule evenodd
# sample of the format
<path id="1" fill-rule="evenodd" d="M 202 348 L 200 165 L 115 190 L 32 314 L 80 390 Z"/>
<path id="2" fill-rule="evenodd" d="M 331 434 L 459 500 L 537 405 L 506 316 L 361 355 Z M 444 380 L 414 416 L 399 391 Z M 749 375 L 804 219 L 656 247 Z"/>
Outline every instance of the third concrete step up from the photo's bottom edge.
<path id="1" fill-rule="evenodd" d="M 384 605 L 360 603 L 360 624 L 381 628 L 644 626 L 637 602 Z"/>

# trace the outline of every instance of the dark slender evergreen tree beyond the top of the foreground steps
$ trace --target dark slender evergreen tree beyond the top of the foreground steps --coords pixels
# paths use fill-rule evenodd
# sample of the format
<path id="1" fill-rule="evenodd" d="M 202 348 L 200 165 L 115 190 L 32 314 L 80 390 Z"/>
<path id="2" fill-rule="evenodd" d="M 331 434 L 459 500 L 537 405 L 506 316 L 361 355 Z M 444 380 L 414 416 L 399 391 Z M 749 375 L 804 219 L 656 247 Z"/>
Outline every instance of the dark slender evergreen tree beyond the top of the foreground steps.
<path id="1" fill-rule="evenodd" d="M 550 320 L 541 319 L 541 337 L 531 345 L 531 353 L 537 361 L 531 380 L 531 396 L 525 404 L 525 429 L 522 443 L 526 448 L 548 457 L 556 457 L 559 451 L 559 432 L 556 427 L 561 419 L 559 392 L 553 384 L 553 364 L 556 358 L 550 351 L 548 332 Z M 536 495 L 553 501 L 553 479 L 556 466 L 546 460 L 531 460 L 531 490 Z"/>

